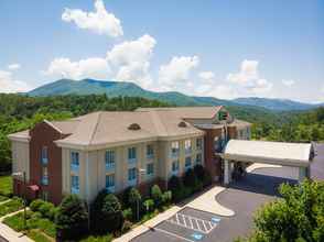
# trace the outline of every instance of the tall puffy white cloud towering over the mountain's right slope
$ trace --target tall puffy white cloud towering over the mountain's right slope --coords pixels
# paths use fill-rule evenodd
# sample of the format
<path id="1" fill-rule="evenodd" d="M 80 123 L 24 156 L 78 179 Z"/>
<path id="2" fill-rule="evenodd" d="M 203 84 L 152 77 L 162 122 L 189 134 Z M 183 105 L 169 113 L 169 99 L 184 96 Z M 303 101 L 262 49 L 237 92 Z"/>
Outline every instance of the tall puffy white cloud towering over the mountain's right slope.
<path id="1" fill-rule="evenodd" d="M 107 61 L 115 72 L 117 80 L 132 80 L 148 88 L 151 85 L 149 74 L 150 59 L 156 41 L 145 34 L 136 41 L 117 44 L 107 53 Z"/>

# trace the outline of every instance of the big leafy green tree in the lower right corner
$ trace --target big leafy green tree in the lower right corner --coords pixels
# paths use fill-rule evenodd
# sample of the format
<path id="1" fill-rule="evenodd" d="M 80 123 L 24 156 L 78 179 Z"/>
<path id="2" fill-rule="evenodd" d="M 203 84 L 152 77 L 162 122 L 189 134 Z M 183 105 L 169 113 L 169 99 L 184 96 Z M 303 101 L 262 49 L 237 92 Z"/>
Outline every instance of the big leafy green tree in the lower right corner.
<path id="1" fill-rule="evenodd" d="M 324 241 L 324 183 L 285 184 L 280 194 L 282 199 L 258 211 L 256 231 L 248 241 Z"/>

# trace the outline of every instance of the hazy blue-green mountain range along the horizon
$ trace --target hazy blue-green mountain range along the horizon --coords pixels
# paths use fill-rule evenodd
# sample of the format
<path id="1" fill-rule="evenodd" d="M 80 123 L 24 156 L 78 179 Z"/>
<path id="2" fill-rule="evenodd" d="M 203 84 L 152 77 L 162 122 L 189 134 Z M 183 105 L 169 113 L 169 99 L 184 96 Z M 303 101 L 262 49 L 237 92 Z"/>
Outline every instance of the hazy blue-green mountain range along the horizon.
<path id="1" fill-rule="evenodd" d="M 176 91 L 154 92 L 145 90 L 134 82 L 110 81 L 95 79 L 60 79 L 29 91 L 29 96 L 64 96 L 64 95 L 102 95 L 107 97 L 129 96 L 156 99 L 176 106 L 250 106 L 272 111 L 296 111 L 317 108 L 322 105 L 311 105 L 288 99 L 237 98 L 233 100 L 214 97 L 186 96 Z"/>

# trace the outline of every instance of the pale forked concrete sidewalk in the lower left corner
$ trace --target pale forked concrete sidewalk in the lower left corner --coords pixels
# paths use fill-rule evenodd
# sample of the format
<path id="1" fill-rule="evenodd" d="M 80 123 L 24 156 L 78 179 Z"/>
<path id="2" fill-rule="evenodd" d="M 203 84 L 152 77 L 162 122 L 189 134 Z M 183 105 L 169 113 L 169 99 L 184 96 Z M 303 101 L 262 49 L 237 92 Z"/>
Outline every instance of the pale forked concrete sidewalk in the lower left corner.
<path id="1" fill-rule="evenodd" d="M 10 227 L 6 226 L 4 223 L 2 223 L 3 219 L 7 217 L 11 217 L 14 216 L 19 212 L 23 212 L 23 210 L 19 210 L 12 213 L 9 213 L 7 216 L 3 216 L 0 218 L 0 235 L 2 238 L 4 238 L 8 241 L 14 241 L 14 242 L 34 242 L 33 240 L 31 240 L 30 238 L 28 238 L 26 235 L 24 235 L 21 232 L 17 232 L 13 229 L 11 229 Z"/>

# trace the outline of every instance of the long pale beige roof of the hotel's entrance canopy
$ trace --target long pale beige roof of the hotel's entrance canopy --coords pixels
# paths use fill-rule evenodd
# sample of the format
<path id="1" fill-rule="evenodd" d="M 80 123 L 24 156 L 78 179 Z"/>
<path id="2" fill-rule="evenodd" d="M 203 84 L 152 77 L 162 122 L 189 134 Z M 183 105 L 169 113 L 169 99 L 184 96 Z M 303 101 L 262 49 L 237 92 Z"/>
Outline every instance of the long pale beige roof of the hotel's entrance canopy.
<path id="1" fill-rule="evenodd" d="M 312 144 L 269 141 L 228 141 L 224 160 L 309 167 L 314 156 Z"/>

